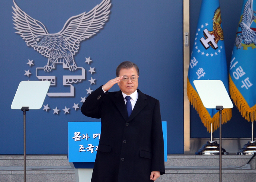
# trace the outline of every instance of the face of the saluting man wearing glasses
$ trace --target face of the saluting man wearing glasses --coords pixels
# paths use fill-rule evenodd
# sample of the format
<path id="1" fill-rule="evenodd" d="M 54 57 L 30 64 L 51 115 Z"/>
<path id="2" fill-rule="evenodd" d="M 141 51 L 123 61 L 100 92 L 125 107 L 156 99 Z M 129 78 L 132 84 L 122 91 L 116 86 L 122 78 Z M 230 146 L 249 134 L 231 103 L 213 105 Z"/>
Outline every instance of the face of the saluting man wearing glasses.
<path id="1" fill-rule="evenodd" d="M 119 77 L 138 78 L 139 76 L 135 67 L 132 67 L 130 69 L 125 69 L 125 68 L 120 69 Z M 126 95 L 130 95 L 134 93 L 138 88 L 138 79 L 136 79 L 136 81 L 131 81 L 131 79 L 128 79 L 127 82 L 125 82 L 124 80 L 121 80 L 118 83 L 118 86 L 123 93 L 125 93 Z"/>

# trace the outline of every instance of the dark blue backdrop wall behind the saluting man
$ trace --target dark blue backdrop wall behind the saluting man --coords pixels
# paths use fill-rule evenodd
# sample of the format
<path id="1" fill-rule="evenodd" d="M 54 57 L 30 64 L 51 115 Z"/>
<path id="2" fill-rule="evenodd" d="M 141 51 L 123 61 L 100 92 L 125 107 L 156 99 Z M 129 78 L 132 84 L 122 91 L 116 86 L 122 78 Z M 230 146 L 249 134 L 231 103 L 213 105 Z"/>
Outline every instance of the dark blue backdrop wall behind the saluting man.
<path id="1" fill-rule="evenodd" d="M 70 17 L 89 12 L 101 2 L 15 0 L 20 16 L 25 12 L 40 21 L 50 34 L 60 32 Z M 68 122 L 99 121 L 82 115 L 78 107 L 90 90 L 113 79 L 116 66 L 127 60 L 140 68 L 138 88 L 160 100 L 162 121 L 167 121 L 168 153 L 183 153 L 182 0 L 112 0 L 111 3 L 103 28 L 80 42 L 74 55 L 77 67 L 86 72 L 84 79 L 70 83 L 74 86 L 74 96 L 46 96 L 42 109 L 26 113 L 27 154 L 67 154 Z M 28 47 L 15 33 L 12 6 L 12 0 L 5 0 L 0 6 L 0 154 L 23 153 L 22 111 L 10 109 L 20 81 L 39 80 L 38 75 L 56 76 L 56 85 L 49 92 L 68 93 L 71 86 L 63 85 L 63 75 L 81 74 L 64 69 L 62 64 L 56 64 L 56 69 L 49 73 L 42 71 L 48 58 Z M 118 89 L 116 85 L 112 91 Z"/>

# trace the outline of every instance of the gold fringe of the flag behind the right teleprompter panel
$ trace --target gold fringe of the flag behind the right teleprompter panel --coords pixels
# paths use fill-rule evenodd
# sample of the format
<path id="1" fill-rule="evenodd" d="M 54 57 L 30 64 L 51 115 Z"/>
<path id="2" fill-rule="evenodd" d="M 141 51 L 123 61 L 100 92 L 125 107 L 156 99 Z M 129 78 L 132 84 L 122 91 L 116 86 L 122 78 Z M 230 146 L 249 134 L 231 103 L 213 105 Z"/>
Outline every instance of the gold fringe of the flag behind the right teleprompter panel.
<path id="1" fill-rule="evenodd" d="M 219 112 L 216 113 L 213 117 L 210 116 L 207 109 L 204 107 L 198 93 L 190 84 L 189 79 L 187 79 L 187 95 L 188 100 L 196 109 L 197 113 L 199 114 L 202 123 L 207 128 L 207 131 L 210 133 L 211 131 L 211 123 L 213 126 L 213 131 L 220 127 L 220 115 Z M 227 123 L 232 117 L 232 109 L 223 109 L 222 110 L 222 124 Z"/>

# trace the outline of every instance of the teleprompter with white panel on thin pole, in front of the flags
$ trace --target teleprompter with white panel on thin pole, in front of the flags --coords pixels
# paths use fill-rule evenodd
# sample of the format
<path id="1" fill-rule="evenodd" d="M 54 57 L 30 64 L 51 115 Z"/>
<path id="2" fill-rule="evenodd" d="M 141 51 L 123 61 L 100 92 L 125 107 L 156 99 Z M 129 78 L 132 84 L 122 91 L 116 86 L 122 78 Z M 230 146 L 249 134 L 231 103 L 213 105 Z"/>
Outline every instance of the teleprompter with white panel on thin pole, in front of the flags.
<path id="1" fill-rule="evenodd" d="M 195 80 L 194 85 L 198 95 L 204 105 L 208 109 L 216 109 L 220 114 L 220 182 L 222 181 L 222 110 L 232 108 L 233 104 L 226 91 L 226 88 L 220 80 Z"/>

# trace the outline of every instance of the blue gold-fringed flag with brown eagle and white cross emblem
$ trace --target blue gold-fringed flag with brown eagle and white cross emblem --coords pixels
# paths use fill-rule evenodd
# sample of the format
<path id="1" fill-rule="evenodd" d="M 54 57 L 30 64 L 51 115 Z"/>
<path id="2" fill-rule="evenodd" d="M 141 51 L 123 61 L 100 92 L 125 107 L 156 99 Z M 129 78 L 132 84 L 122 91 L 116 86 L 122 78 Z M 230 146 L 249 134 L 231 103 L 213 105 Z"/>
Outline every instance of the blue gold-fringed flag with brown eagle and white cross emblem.
<path id="1" fill-rule="evenodd" d="M 194 86 L 194 80 L 221 80 L 228 91 L 228 68 L 219 0 L 202 0 L 187 80 L 190 103 L 195 107 L 207 130 L 210 132 L 212 123 L 214 131 L 219 127 L 219 113 L 216 109 L 204 107 Z M 231 109 L 224 109 L 222 124 L 231 117 Z"/>

